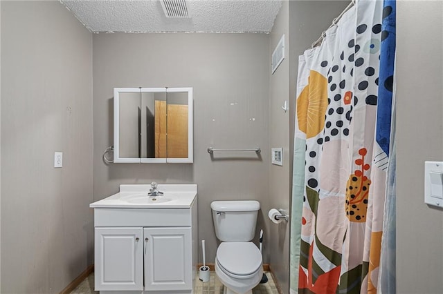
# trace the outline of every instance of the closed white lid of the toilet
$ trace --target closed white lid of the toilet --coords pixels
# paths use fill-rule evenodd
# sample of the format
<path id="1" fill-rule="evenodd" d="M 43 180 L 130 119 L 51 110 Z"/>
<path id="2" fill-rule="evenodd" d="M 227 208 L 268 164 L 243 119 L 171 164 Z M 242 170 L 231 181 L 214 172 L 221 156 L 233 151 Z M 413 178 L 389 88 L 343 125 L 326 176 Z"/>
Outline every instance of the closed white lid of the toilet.
<path id="1" fill-rule="evenodd" d="M 233 275 L 251 275 L 262 266 L 262 255 L 253 242 L 223 242 L 217 249 L 217 261 Z"/>

